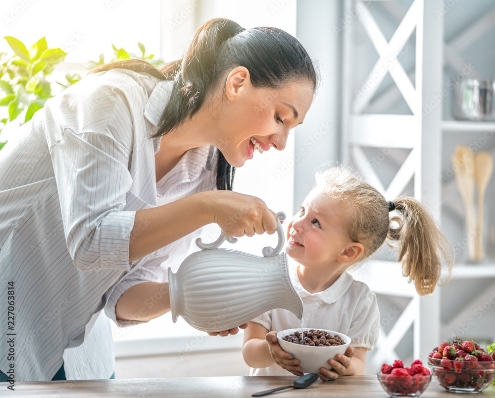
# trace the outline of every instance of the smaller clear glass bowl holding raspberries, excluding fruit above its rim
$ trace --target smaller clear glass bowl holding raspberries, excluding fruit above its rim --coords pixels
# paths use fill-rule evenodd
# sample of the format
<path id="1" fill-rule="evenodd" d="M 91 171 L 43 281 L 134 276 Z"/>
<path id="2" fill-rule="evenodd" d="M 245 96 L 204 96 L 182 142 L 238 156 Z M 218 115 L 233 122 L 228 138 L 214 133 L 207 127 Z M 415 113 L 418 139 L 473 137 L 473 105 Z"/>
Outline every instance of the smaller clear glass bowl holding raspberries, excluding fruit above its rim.
<path id="1" fill-rule="evenodd" d="M 378 381 L 391 397 L 419 397 L 430 385 L 432 375 L 393 375 L 378 372 Z"/>

